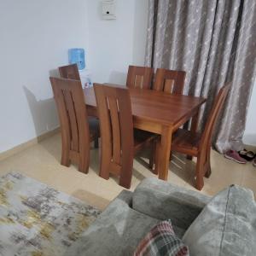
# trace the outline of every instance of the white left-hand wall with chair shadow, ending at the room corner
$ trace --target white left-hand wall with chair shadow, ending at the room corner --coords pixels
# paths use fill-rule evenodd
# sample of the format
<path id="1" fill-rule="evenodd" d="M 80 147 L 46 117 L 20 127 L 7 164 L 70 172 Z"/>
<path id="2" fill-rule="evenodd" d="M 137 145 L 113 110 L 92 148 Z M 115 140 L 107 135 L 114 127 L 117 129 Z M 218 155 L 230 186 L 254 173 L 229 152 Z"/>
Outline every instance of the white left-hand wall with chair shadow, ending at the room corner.
<path id="1" fill-rule="evenodd" d="M 0 152 L 58 125 L 49 71 L 86 48 L 87 25 L 84 0 L 0 1 Z"/>

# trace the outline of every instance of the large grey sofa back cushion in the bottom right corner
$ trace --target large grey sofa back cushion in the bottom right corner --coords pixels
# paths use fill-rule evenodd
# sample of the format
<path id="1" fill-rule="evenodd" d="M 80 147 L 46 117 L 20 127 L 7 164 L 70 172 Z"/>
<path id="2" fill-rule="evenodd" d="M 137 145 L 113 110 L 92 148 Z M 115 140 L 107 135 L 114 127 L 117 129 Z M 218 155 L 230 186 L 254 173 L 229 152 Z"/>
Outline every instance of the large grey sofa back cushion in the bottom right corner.
<path id="1" fill-rule="evenodd" d="M 207 204 L 183 236 L 191 255 L 255 255 L 253 192 L 232 185 Z"/>

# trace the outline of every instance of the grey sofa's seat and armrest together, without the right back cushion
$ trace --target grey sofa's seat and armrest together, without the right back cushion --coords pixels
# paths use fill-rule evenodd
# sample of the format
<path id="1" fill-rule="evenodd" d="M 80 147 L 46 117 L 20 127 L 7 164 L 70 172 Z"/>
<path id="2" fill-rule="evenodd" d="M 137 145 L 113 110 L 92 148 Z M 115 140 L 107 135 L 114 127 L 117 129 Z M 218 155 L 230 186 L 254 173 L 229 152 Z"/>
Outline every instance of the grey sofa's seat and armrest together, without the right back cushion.
<path id="1" fill-rule="evenodd" d="M 169 218 L 177 236 L 182 238 L 210 199 L 156 178 L 146 178 L 133 193 L 123 190 L 66 255 L 131 256 L 148 231 Z"/>

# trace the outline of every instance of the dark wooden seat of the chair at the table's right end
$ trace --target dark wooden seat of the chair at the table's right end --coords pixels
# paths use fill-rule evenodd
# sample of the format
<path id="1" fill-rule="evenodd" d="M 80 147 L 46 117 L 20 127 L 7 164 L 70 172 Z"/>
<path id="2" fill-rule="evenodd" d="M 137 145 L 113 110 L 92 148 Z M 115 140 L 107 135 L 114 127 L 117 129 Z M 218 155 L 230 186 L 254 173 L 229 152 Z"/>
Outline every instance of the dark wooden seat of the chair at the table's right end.
<path id="1" fill-rule="evenodd" d="M 200 140 L 200 133 L 178 129 L 172 137 L 172 151 L 177 151 L 183 154 L 191 151 L 191 153 L 196 156 Z"/>

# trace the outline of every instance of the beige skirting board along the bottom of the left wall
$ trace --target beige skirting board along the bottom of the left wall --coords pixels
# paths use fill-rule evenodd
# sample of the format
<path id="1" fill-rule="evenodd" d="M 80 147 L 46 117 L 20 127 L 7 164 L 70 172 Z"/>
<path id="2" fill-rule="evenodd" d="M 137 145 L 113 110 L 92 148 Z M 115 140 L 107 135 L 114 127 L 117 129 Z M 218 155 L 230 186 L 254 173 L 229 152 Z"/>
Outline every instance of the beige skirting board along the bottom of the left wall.
<path id="1" fill-rule="evenodd" d="M 42 134 L 42 135 L 40 135 L 38 137 L 35 137 L 35 138 L 33 138 L 32 140 L 29 140 L 26 143 L 22 143 L 22 144 L 16 146 L 15 148 L 11 148 L 11 149 L 9 149 L 7 151 L 4 151 L 3 153 L 0 153 L 0 161 L 5 160 L 5 159 L 7 159 L 10 156 L 12 156 L 14 154 L 17 154 L 20 151 L 25 150 L 26 148 L 30 148 L 30 147 L 32 147 L 32 146 L 42 142 L 46 138 L 52 137 L 53 135 L 55 135 L 56 133 L 59 133 L 60 131 L 61 131 L 60 127 L 57 127 L 54 130 L 47 131 L 44 134 Z"/>

